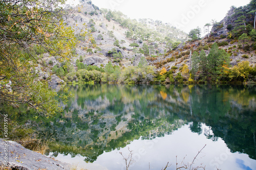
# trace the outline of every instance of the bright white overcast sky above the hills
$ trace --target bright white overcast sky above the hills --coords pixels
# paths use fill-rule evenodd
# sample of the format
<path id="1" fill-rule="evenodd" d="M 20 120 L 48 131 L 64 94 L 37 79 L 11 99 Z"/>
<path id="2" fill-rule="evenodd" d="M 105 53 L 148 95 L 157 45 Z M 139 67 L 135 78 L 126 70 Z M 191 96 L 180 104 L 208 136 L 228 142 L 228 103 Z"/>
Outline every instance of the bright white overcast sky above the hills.
<path id="1" fill-rule="evenodd" d="M 78 0 L 69 0 L 74 4 Z M 212 19 L 221 21 L 231 6 L 245 6 L 250 0 L 91 0 L 99 8 L 121 11 L 131 19 L 151 18 L 171 23 L 188 33 Z"/>

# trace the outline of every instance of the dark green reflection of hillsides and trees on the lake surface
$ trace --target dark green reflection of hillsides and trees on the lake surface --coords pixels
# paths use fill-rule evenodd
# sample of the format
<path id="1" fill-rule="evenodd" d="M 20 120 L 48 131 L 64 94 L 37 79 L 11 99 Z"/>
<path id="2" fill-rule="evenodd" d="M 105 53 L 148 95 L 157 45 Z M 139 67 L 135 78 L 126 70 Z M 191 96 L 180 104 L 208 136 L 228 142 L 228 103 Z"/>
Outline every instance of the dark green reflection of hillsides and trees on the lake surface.
<path id="1" fill-rule="evenodd" d="M 186 126 L 212 142 L 222 139 L 230 153 L 256 158 L 256 86 L 77 85 L 70 90 L 74 98 L 41 132 L 53 134 L 54 156 L 95 162 L 132 141 L 165 138 Z M 237 164 L 244 165 L 239 159 Z"/>

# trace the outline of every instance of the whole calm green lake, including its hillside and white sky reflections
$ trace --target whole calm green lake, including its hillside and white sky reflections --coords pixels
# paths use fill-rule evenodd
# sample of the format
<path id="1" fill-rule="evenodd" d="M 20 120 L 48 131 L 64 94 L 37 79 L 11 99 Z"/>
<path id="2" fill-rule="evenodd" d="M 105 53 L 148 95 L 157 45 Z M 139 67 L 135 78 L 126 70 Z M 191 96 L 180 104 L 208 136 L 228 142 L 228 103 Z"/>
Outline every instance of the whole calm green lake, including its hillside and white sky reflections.
<path id="1" fill-rule="evenodd" d="M 63 113 L 41 125 L 57 160 L 126 169 L 132 153 L 129 169 L 256 169 L 256 86 L 69 87 Z"/>

